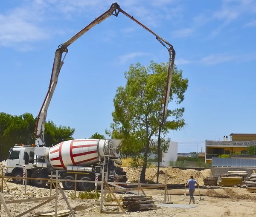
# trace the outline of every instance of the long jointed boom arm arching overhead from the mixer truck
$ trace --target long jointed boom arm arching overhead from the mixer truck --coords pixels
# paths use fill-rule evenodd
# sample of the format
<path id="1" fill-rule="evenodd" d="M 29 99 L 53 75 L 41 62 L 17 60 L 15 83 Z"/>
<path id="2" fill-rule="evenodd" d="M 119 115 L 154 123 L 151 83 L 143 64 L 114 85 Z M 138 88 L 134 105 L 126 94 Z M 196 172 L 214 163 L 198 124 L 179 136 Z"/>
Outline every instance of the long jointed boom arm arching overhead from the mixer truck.
<path id="1" fill-rule="evenodd" d="M 172 44 L 170 44 L 168 41 L 166 41 L 165 39 L 163 39 L 162 37 L 160 37 L 159 35 L 154 33 L 151 29 L 148 29 L 148 27 L 146 27 L 145 25 L 140 23 L 134 17 L 132 17 L 131 15 L 129 15 L 128 13 L 123 11 L 117 3 L 113 3 L 107 12 L 105 12 L 104 14 L 100 15 L 98 18 L 93 20 L 93 22 L 91 22 L 89 25 L 84 27 L 84 29 L 82 29 L 80 32 L 78 32 L 76 35 L 74 35 L 68 41 L 59 45 L 58 49 L 56 49 L 49 88 L 47 91 L 47 95 L 44 98 L 44 103 L 42 104 L 39 114 L 37 116 L 37 122 L 36 122 L 36 126 L 35 126 L 35 145 L 45 146 L 44 126 L 45 126 L 46 117 L 47 117 L 47 109 L 49 107 L 50 101 L 52 99 L 52 95 L 54 93 L 55 87 L 58 82 L 58 75 L 60 73 L 62 65 L 64 64 L 64 59 L 68 52 L 67 47 L 70 46 L 74 41 L 76 41 L 82 35 L 84 35 L 85 32 L 87 32 L 91 28 L 93 28 L 93 26 L 96 26 L 96 24 L 101 23 L 103 20 L 106 20 L 111 15 L 114 15 L 117 17 L 119 12 L 121 12 L 125 16 L 129 17 L 131 20 L 133 20 L 134 22 L 136 22 L 137 24 L 142 26 L 148 32 L 150 32 L 151 34 L 156 36 L 157 40 L 160 41 L 160 43 L 168 49 L 169 66 L 168 66 L 168 78 L 167 78 L 167 85 L 166 85 L 165 101 L 164 101 L 164 107 L 163 107 L 163 122 L 164 122 L 166 113 L 167 113 L 167 106 L 168 106 L 168 102 L 169 102 L 169 93 L 170 93 L 170 86 L 171 86 L 171 82 L 172 82 L 172 72 L 173 72 L 174 60 L 175 60 L 175 50 L 173 49 Z M 64 58 L 62 59 L 63 53 L 65 53 L 65 55 L 64 55 Z"/>

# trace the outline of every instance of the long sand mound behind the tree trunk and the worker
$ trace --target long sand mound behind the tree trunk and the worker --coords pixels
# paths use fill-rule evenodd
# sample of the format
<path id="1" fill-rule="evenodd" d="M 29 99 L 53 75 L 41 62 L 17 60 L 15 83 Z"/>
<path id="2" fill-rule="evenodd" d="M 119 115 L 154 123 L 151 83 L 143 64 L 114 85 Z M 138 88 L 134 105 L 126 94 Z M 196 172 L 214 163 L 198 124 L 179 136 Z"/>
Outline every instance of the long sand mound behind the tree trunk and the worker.
<path id="1" fill-rule="evenodd" d="M 129 182 L 138 182 L 138 176 L 141 173 L 141 168 L 123 168 L 127 172 Z M 211 176 L 211 170 L 180 170 L 178 168 L 160 168 L 159 182 L 165 183 L 165 171 L 167 170 L 167 184 L 183 184 L 192 175 L 194 178 L 198 177 L 199 184 L 204 183 L 204 177 Z M 156 182 L 157 168 L 146 169 L 146 179 L 148 182 Z"/>

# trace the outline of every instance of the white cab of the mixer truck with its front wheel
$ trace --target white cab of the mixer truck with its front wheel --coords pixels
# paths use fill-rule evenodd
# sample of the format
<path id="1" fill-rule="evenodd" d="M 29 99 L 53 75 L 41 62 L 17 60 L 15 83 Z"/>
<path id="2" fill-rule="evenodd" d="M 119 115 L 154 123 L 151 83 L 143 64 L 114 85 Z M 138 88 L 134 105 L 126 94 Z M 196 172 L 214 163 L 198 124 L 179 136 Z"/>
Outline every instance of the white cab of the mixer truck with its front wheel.
<path id="1" fill-rule="evenodd" d="M 23 165 L 32 164 L 34 161 L 34 149 L 35 147 L 31 147 L 30 145 L 17 145 L 13 148 L 10 148 L 9 155 L 6 160 L 6 176 L 15 176 L 22 177 L 23 176 Z M 21 184 L 23 182 L 22 179 L 13 179 L 13 182 L 17 184 Z"/>

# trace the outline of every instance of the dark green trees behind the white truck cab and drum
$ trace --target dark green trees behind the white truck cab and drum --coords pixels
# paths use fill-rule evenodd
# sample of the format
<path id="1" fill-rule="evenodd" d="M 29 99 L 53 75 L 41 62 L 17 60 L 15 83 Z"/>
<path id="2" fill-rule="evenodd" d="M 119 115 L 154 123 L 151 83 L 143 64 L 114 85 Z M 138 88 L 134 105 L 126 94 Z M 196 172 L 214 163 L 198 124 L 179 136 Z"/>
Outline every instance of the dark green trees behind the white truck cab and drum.
<path id="1" fill-rule="evenodd" d="M 0 160 L 6 160 L 9 149 L 15 144 L 35 144 L 36 118 L 30 113 L 20 116 L 0 113 Z M 52 121 L 45 124 L 44 138 L 47 146 L 73 139 L 74 128 L 59 126 Z"/>

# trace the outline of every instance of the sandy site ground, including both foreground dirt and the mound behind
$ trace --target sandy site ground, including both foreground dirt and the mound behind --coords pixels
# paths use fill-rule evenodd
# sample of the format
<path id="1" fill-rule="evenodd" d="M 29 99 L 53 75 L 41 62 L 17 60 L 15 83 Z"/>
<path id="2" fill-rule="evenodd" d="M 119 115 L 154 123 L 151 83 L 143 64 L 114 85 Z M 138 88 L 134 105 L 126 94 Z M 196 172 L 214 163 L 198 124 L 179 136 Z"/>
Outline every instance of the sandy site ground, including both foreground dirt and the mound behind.
<path id="1" fill-rule="evenodd" d="M 3 166 L 3 164 L 2 164 Z M 128 171 L 128 179 L 130 182 L 137 182 L 138 174 L 140 173 L 140 169 L 134 168 L 125 168 Z M 160 183 L 165 182 L 165 169 L 161 169 L 162 172 L 160 174 Z M 205 171 L 194 171 L 194 170 L 184 170 L 181 171 L 179 169 L 167 168 L 167 184 L 182 184 L 185 182 L 185 178 L 188 179 L 190 175 L 195 174 L 198 176 L 198 181 L 200 185 L 203 185 L 203 178 L 205 176 L 210 176 L 210 170 Z M 146 177 L 148 182 L 154 182 L 156 179 L 156 168 L 148 168 L 146 172 Z M 24 185 L 16 185 L 12 182 L 7 182 L 10 191 L 6 192 L 6 187 L 4 185 L 3 197 L 5 200 L 22 200 L 28 198 L 36 198 L 36 197 L 49 197 L 49 187 L 48 188 L 35 188 L 33 186 L 28 185 L 26 192 L 27 195 L 24 195 Z M 159 217 L 226 217 L 226 216 L 236 216 L 236 217 L 252 217 L 256 214 L 256 193 L 252 193 L 247 191 L 244 188 L 234 188 L 234 187 L 219 187 L 219 186 L 202 186 L 200 188 L 201 198 L 204 200 L 199 200 L 199 192 L 198 188 L 195 190 L 195 208 L 166 208 L 160 207 L 151 211 L 141 211 L 141 212 L 130 212 L 127 214 L 123 214 L 120 212 L 119 214 L 105 214 L 100 213 L 100 198 L 98 200 L 81 200 L 81 199 L 72 199 L 72 195 L 74 191 L 66 191 L 64 190 L 65 195 L 71 205 L 71 207 L 76 210 L 77 217 L 84 216 L 95 216 L 99 215 L 102 217 L 124 217 L 129 215 L 131 217 L 151 217 L 151 216 L 159 216 Z M 141 193 L 141 191 L 140 191 Z M 164 190 L 145 190 L 145 193 L 148 196 L 152 196 L 154 199 L 163 201 L 164 200 Z M 189 204 L 189 191 L 186 189 L 186 200 L 184 198 L 184 188 L 180 189 L 170 189 L 168 190 L 169 199 L 172 195 L 173 205 L 188 205 Z M 58 193 L 58 210 L 68 209 L 67 204 L 64 199 L 61 199 L 62 196 L 60 192 Z M 76 192 L 79 194 L 79 191 Z M 55 190 L 52 189 L 52 196 L 55 195 Z M 122 199 L 125 196 L 131 196 L 132 194 L 115 194 L 118 199 Z M 26 211 L 29 208 L 34 207 L 42 203 L 42 201 L 30 202 L 30 203 L 15 203 L 15 204 L 7 204 L 9 210 L 11 211 L 12 216 L 17 216 L 23 211 Z M 114 202 L 105 202 L 105 203 L 114 203 Z M 122 202 L 121 202 L 122 203 Z M 159 203 L 155 203 L 159 205 Z M 27 217 L 33 217 L 37 212 L 42 211 L 55 211 L 55 200 L 52 200 L 50 203 L 43 205 L 42 207 L 32 211 L 29 214 L 26 214 Z M 6 212 L 3 208 L 0 210 L 0 217 L 5 217 Z"/>

